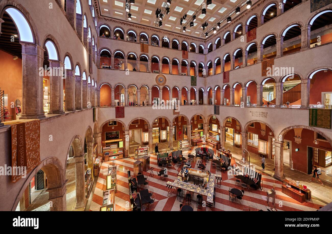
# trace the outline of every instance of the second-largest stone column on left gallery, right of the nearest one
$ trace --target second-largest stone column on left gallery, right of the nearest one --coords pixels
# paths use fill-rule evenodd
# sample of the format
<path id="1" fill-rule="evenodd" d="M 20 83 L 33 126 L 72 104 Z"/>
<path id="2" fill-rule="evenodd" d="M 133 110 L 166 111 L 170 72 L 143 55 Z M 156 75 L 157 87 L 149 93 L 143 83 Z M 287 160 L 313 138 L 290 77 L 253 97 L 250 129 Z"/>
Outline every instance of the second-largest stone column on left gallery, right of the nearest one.
<path id="1" fill-rule="evenodd" d="M 49 67 L 53 69 L 53 73 L 60 73 L 58 67 L 63 68 L 61 61 L 49 60 Z M 54 71 L 54 69 L 56 69 Z M 49 112 L 48 114 L 64 114 L 63 111 L 63 76 L 62 74 L 50 75 L 50 95 L 49 95 Z"/>

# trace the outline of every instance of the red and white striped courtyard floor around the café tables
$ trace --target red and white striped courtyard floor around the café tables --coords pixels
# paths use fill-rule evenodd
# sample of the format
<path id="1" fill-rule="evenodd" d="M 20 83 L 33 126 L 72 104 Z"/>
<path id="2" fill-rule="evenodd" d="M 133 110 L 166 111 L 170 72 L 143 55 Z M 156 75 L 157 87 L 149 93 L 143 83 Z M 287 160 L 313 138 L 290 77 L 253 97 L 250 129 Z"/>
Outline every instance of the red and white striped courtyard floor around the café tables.
<path id="1" fill-rule="evenodd" d="M 194 151 L 195 148 L 196 147 L 193 147 L 192 150 Z M 184 152 L 184 155 L 187 155 L 190 152 L 191 151 Z M 133 175 L 133 162 L 135 161 L 136 160 L 132 158 L 120 159 L 116 161 L 116 164 L 118 166 L 117 191 L 115 194 L 116 211 L 130 211 L 127 170 L 130 170 L 131 175 Z M 106 174 L 109 163 L 110 162 L 104 162 L 102 164 L 95 192 L 93 194 L 92 202 L 90 205 L 90 211 L 99 211 L 99 208 L 102 204 L 103 191 L 106 189 Z M 180 204 L 183 202 L 183 198 L 181 199 L 181 201 L 177 200 L 176 194 L 174 193 L 171 197 L 168 197 L 168 189 L 166 188 L 166 182 L 168 180 L 174 181 L 175 179 L 177 179 L 177 174 L 182 167 L 179 167 L 178 165 L 173 165 L 171 169 L 168 169 L 168 179 L 165 178 L 164 180 L 162 180 L 161 178 L 159 179 L 157 176 L 157 172 L 161 170 L 161 168 L 157 166 L 157 156 L 150 156 L 150 167 L 155 168 L 154 176 L 151 177 L 149 172 L 143 172 L 143 174 L 149 177 L 149 190 L 153 189 L 156 198 L 154 204 L 151 205 L 150 209 L 147 210 L 179 211 Z M 192 162 L 192 167 L 197 168 L 197 162 Z M 229 186 L 232 185 L 236 188 L 241 189 L 239 185 L 235 185 L 235 179 L 233 175 L 227 175 L 227 173 L 225 172 L 221 173 L 219 170 L 215 172 L 215 167 L 211 167 L 211 160 L 207 161 L 207 170 L 210 170 L 211 173 L 222 175 L 221 187 L 218 188 L 217 185 L 215 185 L 215 207 L 212 209 L 206 207 L 203 207 L 202 209 L 197 209 L 196 203 L 193 202 L 194 211 L 242 211 L 243 208 L 248 208 L 249 205 L 254 205 L 258 209 L 266 211 L 266 191 L 273 188 L 273 185 L 275 185 L 277 193 L 275 207 L 278 211 L 316 211 L 317 209 L 319 209 L 319 207 L 325 205 L 324 203 L 315 199 L 312 199 L 302 204 L 295 201 L 294 199 L 281 192 L 282 182 L 264 173 L 262 175 L 263 191 L 250 189 L 249 191 L 245 191 L 242 204 L 240 204 L 238 201 L 232 202 L 229 201 Z M 272 199 L 270 199 L 270 201 L 272 201 Z M 271 202 L 270 206 L 272 206 Z"/>

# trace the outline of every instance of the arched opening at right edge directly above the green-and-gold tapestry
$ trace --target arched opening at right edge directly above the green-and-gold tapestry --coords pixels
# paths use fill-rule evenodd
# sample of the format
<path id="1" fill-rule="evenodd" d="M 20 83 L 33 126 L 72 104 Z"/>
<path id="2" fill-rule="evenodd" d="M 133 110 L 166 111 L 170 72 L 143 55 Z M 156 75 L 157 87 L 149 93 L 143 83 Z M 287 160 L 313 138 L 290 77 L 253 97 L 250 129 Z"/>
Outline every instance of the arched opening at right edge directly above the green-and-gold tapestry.
<path id="1" fill-rule="evenodd" d="M 310 74 L 310 105 L 332 109 L 331 78 L 329 69 L 318 69 Z"/>

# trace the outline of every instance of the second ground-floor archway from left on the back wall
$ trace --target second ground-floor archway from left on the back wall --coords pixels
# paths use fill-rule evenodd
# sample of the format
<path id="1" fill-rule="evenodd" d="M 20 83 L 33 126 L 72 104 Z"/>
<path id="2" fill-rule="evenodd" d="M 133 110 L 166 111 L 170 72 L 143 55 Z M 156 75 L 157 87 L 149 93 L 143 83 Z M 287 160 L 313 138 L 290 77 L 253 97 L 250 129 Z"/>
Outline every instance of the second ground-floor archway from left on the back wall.
<path id="1" fill-rule="evenodd" d="M 129 156 L 134 156 L 136 160 L 149 155 L 149 138 L 148 123 L 141 118 L 132 120 L 129 124 Z M 150 151 L 152 150 L 150 149 Z"/>

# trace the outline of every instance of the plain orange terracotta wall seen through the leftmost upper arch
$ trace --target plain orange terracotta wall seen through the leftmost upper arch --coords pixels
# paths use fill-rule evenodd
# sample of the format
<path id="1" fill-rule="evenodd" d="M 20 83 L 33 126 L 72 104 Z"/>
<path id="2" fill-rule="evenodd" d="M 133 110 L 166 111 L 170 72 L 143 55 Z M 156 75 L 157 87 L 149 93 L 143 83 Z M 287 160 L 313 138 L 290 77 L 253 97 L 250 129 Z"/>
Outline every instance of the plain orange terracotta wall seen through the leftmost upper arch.
<path id="1" fill-rule="evenodd" d="M 0 50 L 0 89 L 8 94 L 9 115 L 14 115 L 16 119 L 15 106 L 11 108 L 11 102 L 15 103 L 19 99 L 22 103 L 22 59 L 13 59 L 13 56 Z M 22 109 L 24 106 L 21 106 Z"/>

